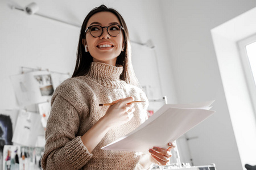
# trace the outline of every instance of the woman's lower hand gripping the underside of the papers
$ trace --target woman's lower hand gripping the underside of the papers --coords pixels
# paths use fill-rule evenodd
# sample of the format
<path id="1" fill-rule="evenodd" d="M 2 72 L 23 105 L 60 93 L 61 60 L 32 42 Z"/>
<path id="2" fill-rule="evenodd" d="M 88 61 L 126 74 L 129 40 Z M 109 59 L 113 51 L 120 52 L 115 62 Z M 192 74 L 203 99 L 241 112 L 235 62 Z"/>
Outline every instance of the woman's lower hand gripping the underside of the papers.
<path id="1" fill-rule="evenodd" d="M 174 143 L 168 143 L 168 149 L 160 148 L 160 147 L 153 147 L 152 149 L 148 150 L 151 154 L 150 161 L 151 163 L 164 166 L 169 162 L 169 158 L 172 156 L 171 150 L 175 148 Z"/>

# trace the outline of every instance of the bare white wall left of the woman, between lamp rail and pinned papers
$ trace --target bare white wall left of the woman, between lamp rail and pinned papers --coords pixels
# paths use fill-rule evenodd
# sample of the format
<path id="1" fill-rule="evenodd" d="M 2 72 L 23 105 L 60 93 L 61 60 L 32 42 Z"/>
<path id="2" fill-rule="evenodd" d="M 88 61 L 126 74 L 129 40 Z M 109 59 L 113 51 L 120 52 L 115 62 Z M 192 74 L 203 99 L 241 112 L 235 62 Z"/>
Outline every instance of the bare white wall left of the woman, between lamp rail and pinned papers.
<path id="1" fill-rule="evenodd" d="M 73 73 L 79 29 L 11 10 L 0 1 L 0 109 L 17 109 L 10 75 L 21 67 Z"/>

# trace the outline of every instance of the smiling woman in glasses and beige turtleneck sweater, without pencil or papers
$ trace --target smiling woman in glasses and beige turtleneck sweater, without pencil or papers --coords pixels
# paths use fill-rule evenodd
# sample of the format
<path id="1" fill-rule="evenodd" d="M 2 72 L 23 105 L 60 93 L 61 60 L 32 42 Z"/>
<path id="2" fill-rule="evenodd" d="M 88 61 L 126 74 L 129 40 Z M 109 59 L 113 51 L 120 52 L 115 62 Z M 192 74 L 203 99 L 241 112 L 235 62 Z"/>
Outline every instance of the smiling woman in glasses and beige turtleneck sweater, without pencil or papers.
<path id="1" fill-rule="evenodd" d="M 133 74 L 129 33 L 122 16 L 104 5 L 86 16 L 72 78 L 57 87 L 46 128 L 43 169 L 148 169 L 166 165 L 174 147 L 150 154 L 105 151 L 146 120 L 148 102 Z M 99 107 L 100 103 L 115 103 Z"/>

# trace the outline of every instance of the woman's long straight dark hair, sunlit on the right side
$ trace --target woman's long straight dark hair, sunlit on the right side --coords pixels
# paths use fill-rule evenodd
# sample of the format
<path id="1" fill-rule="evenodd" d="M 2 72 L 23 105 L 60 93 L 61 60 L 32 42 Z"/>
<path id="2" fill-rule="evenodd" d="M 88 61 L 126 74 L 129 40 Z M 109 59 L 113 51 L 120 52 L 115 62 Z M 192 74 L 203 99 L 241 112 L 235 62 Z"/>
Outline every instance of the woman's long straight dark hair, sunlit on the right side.
<path id="1" fill-rule="evenodd" d="M 121 26 L 124 28 L 123 39 L 125 42 L 125 48 L 123 52 L 121 52 L 117 57 L 117 62 L 116 62 L 116 65 L 123 66 L 123 72 L 120 75 L 120 79 L 124 80 L 126 83 L 141 87 L 134 74 L 133 66 L 131 65 L 130 38 L 129 38 L 129 32 L 128 32 L 125 20 L 122 18 L 119 12 L 117 12 L 113 8 L 108 8 L 105 5 L 101 5 L 99 7 L 93 8 L 93 10 L 89 12 L 89 14 L 85 17 L 84 22 L 82 23 L 80 37 L 79 37 L 79 45 L 77 47 L 76 67 L 72 77 L 86 75 L 90 69 L 90 63 L 93 62 L 93 57 L 90 55 L 89 52 L 87 53 L 85 52 L 85 47 L 82 44 L 82 39 L 85 39 L 85 29 L 90 17 L 96 14 L 97 12 L 103 12 L 103 11 L 108 11 L 115 14 L 115 16 L 117 16 L 117 18 L 119 19 Z"/>

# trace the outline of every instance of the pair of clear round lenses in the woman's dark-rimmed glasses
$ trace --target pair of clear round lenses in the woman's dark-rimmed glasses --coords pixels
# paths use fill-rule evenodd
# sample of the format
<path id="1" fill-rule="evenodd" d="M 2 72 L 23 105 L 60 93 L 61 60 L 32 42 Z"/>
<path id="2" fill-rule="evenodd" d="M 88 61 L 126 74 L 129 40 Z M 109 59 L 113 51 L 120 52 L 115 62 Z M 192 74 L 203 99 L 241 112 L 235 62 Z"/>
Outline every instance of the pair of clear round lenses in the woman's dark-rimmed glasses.
<path id="1" fill-rule="evenodd" d="M 107 27 L 108 33 L 110 36 L 118 36 L 118 34 L 120 33 L 120 28 L 118 27 L 118 25 L 109 25 L 109 27 Z M 100 25 L 92 25 L 92 27 L 90 27 L 90 34 L 94 37 L 99 37 L 101 36 L 103 30 L 102 27 Z"/>

